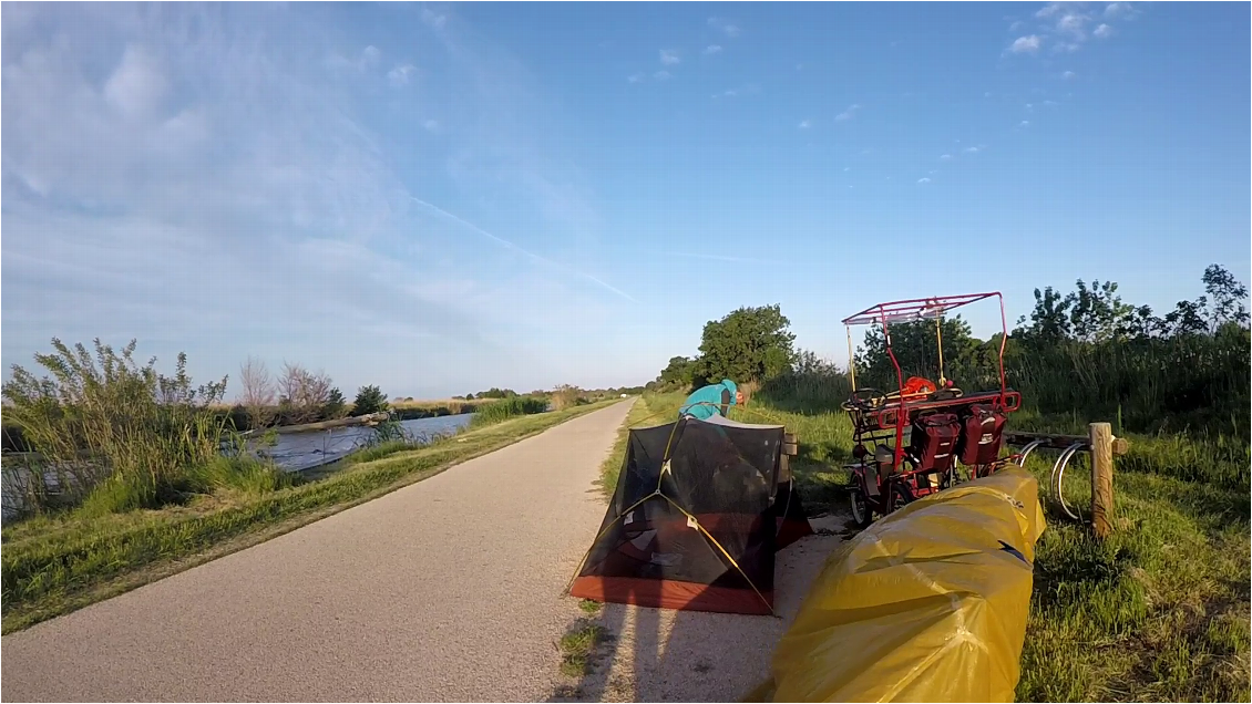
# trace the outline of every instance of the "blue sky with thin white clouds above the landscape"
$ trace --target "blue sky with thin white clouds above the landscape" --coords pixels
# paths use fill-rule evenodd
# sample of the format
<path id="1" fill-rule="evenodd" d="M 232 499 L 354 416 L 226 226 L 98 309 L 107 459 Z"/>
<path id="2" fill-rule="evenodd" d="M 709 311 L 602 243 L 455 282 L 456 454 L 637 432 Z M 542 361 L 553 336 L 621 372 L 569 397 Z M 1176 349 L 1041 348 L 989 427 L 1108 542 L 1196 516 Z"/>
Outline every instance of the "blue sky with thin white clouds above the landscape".
<path id="1" fill-rule="evenodd" d="M 641 384 L 740 305 L 840 361 L 881 300 L 1164 311 L 1252 279 L 1248 8 L 5 3 L 6 376 L 138 338 L 442 396 Z"/>

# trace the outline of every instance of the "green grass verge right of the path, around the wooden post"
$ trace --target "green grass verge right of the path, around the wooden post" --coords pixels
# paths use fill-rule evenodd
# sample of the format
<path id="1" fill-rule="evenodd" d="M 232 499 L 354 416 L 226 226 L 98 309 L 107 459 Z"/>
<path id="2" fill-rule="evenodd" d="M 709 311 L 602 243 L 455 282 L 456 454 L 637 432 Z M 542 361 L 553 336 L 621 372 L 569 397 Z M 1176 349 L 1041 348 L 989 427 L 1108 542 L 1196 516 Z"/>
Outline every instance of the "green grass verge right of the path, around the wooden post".
<path id="1" fill-rule="evenodd" d="M 754 405 L 731 418 L 761 421 L 764 413 L 799 434 L 793 466 L 810 514 L 844 510 L 846 416 Z M 1023 411 L 1010 424 L 1078 434 L 1085 420 Z M 1252 445 L 1222 434 L 1118 435 L 1131 440 L 1131 451 L 1117 461 L 1112 539 L 1094 540 L 1045 500 L 1049 525 L 1035 563 L 1018 699 L 1248 701 Z M 1054 459 L 1028 463 L 1043 494 Z M 1070 464 L 1064 489 L 1083 510 L 1090 505 L 1085 461 Z"/>

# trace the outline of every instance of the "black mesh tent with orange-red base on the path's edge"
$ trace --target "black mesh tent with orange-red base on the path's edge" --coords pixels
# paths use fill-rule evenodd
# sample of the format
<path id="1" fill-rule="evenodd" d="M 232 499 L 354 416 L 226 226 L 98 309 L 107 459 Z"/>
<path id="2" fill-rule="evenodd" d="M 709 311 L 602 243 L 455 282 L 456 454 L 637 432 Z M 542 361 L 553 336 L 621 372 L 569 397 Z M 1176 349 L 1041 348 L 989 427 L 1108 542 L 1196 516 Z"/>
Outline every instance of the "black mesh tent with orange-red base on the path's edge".
<path id="1" fill-rule="evenodd" d="M 781 425 L 712 416 L 631 429 L 596 540 L 570 593 L 585 599 L 770 614 L 774 554 L 813 533 L 779 481 Z"/>

